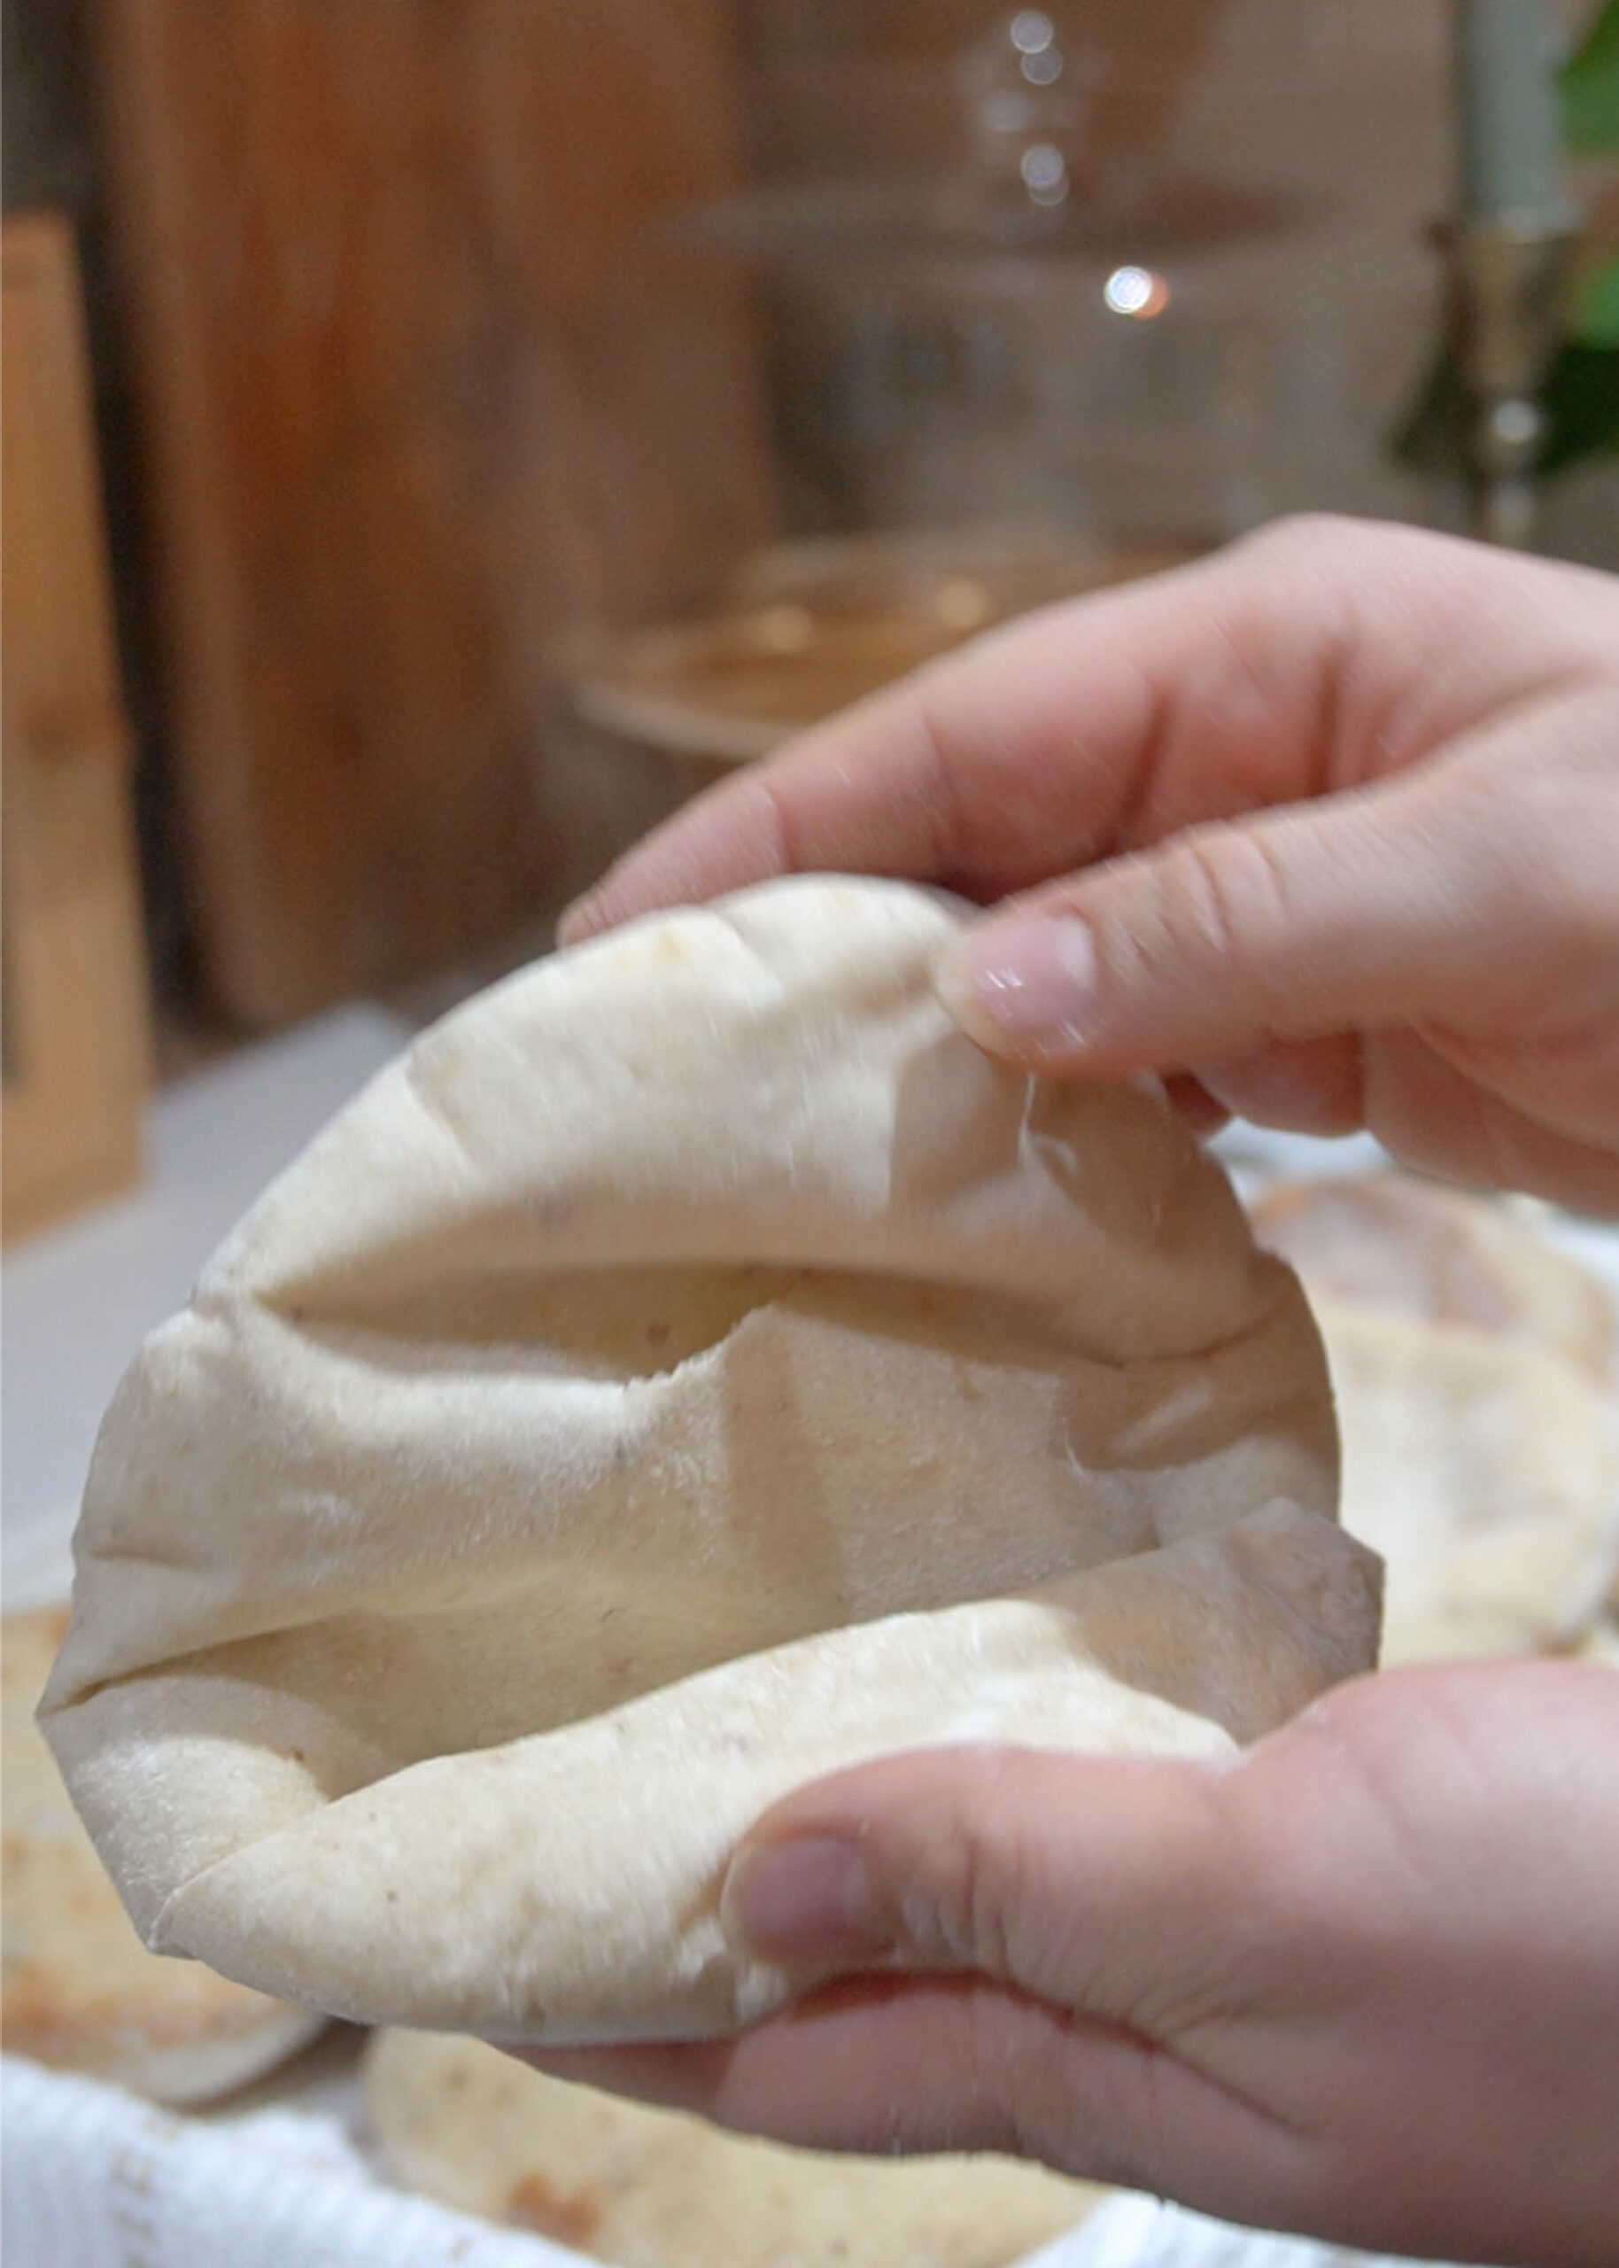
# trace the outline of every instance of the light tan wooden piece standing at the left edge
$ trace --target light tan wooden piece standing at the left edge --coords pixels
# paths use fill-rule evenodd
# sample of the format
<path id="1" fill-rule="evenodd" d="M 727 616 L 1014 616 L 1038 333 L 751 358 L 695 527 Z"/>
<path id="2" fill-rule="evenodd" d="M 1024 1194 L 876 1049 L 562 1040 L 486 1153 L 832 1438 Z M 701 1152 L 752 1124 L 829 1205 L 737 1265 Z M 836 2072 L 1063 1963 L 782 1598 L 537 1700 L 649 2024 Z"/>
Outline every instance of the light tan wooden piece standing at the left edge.
<path id="1" fill-rule="evenodd" d="M 0 247 L 7 1238 L 136 1179 L 145 962 L 73 236 Z"/>

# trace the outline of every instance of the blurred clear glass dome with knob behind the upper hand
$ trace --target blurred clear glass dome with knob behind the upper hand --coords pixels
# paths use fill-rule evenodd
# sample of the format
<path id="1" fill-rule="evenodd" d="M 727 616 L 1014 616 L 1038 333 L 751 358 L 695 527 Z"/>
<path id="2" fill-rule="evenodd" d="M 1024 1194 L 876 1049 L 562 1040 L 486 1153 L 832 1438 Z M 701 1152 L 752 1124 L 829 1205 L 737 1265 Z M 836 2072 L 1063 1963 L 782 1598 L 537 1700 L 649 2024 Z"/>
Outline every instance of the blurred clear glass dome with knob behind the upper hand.
<path id="1" fill-rule="evenodd" d="M 1419 245 L 1395 358 L 1365 320 L 1385 234 L 1100 134 L 1143 66 L 1088 23 L 1018 9 L 959 52 L 932 172 L 766 181 L 639 247 L 603 352 L 628 404 L 612 474 L 683 494 L 673 517 L 712 540 L 671 578 L 619 515 L 576 655 L 599 726 L 746 760 L 1029 606 L 1281 510 L 1399 508 L 1370 404 L 1392 408 L 1424 345 Z M 1270 104 L 1288 82 L 1245 84 Z M 721 367 L 735 451 L 671 472 L 678 388 Z"/>

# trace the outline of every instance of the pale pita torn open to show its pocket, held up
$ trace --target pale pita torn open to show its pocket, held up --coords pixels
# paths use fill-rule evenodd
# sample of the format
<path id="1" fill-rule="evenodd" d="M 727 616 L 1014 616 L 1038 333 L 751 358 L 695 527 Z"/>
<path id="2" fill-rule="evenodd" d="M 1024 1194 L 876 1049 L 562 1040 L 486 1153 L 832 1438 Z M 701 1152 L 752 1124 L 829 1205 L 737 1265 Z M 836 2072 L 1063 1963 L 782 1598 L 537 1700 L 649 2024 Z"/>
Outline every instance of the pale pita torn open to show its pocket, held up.
<path id="1" fill-rule="evenodd" d="M 794 880 L 417 1041 L 104 1422 L 45 1728 L 154 1948 L 336 2014 L 701 2037 L 737 1837 L 948 1740 L 1215 1755 L 1370 1667 L 1315 1327 L 1161 1091 Z M 805 1980 L 791 1980 L 803 1984 Z"/>

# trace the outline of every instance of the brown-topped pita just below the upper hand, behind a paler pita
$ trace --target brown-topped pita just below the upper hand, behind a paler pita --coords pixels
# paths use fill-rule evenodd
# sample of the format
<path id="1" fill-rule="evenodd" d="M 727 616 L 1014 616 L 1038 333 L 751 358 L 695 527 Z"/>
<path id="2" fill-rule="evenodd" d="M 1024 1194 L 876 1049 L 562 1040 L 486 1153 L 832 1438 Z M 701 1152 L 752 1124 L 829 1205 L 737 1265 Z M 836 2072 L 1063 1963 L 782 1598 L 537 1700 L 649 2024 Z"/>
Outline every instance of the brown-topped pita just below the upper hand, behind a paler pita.
<path id="1" fill-rule="evenodd" d="M 1329 1300 L 1463 1322 L 1610 1379 L 1605 1288 L 1537 1236 L 1517 1200 L 1463 1195 L 1404 1173 L 1290 1182 L 1254 1207 L 1254 1234 Z"/>

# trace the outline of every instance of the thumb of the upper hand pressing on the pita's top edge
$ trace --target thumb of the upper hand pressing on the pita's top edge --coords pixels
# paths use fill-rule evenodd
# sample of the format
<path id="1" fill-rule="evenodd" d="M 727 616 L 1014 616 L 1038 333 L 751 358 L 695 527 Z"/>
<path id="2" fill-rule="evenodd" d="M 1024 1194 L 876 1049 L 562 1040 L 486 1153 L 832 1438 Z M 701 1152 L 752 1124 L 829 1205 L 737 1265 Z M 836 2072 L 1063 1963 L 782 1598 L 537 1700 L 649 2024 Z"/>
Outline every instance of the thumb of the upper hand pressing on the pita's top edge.
<path id="1" fill-rule="evenodd" d="M 1202 826 L 973 925 L 939 989 L 993 1055 L 1104 1075 L 1467 1030 L 1544 980 L 1558 903 L 1521 839 L 1476 837 L 1429 780 Z"/>

